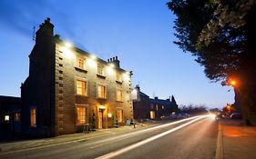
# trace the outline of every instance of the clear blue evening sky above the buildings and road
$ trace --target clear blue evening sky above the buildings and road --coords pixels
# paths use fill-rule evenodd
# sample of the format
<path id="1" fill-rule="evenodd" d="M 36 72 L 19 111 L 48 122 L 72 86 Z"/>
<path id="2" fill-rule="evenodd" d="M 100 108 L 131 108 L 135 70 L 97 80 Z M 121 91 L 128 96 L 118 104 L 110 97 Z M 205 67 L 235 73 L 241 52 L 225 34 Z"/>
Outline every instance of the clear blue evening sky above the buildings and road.
<path id="1" fill-rule="evenodd" d="M 55 34 L 106 60 L 118 55 L 132 86 L 178 104 L 223 107 L 229 86 L 212 83 L 173 35 L 176 16 L 166 0 L 0 0 L 0 95 L 20 96 L 35 41 L 33 28 L 51 18 Z M 230 90 L 230 91 L 229 91 Z"/>

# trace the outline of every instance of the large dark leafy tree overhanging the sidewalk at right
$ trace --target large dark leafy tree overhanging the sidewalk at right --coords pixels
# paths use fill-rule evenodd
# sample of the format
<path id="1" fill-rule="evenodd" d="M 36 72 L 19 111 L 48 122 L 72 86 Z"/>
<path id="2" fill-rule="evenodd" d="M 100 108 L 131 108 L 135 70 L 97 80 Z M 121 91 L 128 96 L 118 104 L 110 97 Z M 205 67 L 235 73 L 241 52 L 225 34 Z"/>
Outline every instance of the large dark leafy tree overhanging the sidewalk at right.
<path id="1" fill-rule="evenodd" d="M 174 42 L 195 55 L 213 82 L 233 85 L 246 123 L 256 124 L 256 16 L 254 0 L 172 0 L 177 15 Z"/>

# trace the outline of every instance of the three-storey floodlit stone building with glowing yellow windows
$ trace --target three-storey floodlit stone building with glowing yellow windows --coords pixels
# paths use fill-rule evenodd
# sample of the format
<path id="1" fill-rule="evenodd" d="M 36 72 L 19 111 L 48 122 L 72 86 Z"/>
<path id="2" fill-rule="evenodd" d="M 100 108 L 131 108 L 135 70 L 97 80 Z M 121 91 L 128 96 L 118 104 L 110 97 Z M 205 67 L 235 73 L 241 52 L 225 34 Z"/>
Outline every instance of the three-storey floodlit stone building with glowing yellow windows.
<path id="1" fill-rule="evenodd" d="M 36 31 L 29 75 L 21 86 L 23 132 L 55 136 L 125 124 L 133 118 L 131 71 L 54 35 L 47 18 Z"/>

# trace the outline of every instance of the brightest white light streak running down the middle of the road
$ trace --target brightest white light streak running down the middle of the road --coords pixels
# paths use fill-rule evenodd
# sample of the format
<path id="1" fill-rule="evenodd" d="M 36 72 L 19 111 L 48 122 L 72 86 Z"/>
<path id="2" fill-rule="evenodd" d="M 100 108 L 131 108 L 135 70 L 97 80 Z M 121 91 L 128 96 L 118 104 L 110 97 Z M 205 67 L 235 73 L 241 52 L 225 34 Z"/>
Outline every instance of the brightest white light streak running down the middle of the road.
<path id="1" fill-rule="evenodd" d="M 204 117 L 206 117 L 206 115 L 205 115 L 205 116 L 198 117 L 198 118 L 196 118 L 196 119 L 193 119 L 192 121 L 190 121 L 190 122 L 188 122 L 188 123 L 186 123 L 186 124 L 181 124 L 181 125 L 179 125 L 179 126 L 177 126 L 177 127 L 174 127 L 174 128 L 172 128 L 172 129 L 170 129 L 169 131 L 166 131 L 166 132 L 164 132 L 164 133 L 157 134 L 157 135 L 154 135 L 154 136 L 152 136 L 152 137 L 149 137 L 148 139 L 145 139 L 145 140 L 143 140 L 143 141 L 141 141 L 141 142 L 138 142 L 138 143 L 136 143 L 136 144 L 128 145 L 127 147 L 124 147 L 124 148 L 122 148 L 122 149 L 119 149 L 118 151 L 115 151 L 115 152 L 112 152 L 112 153 L 109 153 L 109 154 L 105 154 L 105 155 L 99 156 L 99 157 L 97 157 L 97 159 L 108 159 L 108 158 L 116 157 L 116 156 L 118 156 L 118 155 L 120 155 L 120 154 L 127 153 L 128 151 L 130 151 L 130 150 L 132 150 L 132 149 L 135 149 L 135 148 L 137 148 L 138 146 L 141 146 L 141 145 L 143 145 L 143 144 L 148 144 L 149 142 L 152 142 L 152 141 L 154 141 L 154 140 L 156 140 L 156 139 L 158 139 L 158 138 L 160 138 L 160 137 L 162 137 L 162 136 L 164 136 L 164 135 L 173 133 L 173 132 L 175 132 L 175 131 L 177 131 L 177 130 L 179 130 L 179 129 L 181 129 L 181 128 L 183 128 L 183 127 L 189 125 L 189 124 L 192 124 L 192 123 L 194 123 L 194 122 L 196 122 L 196 121 L 198 121 L 198 120 L 200 120 L 200 119 L 202 119 L 202 118 L 204 118 Z"/>

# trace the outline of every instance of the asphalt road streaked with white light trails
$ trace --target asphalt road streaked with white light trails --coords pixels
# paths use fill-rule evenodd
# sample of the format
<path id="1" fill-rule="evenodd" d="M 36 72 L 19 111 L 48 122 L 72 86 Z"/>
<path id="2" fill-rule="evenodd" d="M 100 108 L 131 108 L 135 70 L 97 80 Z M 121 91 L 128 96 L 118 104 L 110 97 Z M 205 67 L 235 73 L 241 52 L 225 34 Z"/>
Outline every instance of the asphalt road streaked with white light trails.
<path id="1" fill-rule="evenodd" d="M 218 123 L 194 117 L 131 133 L 117 133 L 0 154 L 0 158 L 214 158 Z"/>

